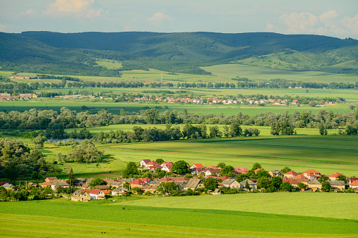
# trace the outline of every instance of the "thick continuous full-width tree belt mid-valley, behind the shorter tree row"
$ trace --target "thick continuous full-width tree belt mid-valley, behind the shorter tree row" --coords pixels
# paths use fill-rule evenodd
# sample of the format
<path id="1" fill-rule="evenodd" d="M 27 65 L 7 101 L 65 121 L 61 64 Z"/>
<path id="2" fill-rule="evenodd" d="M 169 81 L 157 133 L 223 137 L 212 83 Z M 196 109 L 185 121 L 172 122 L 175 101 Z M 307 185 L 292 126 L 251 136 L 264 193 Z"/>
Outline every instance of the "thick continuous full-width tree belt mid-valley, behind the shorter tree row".
<path id="1" fill-rule="evenodd" d="M 0 112 L 0 129 L 28 129 L 28 130 L 61 130 L 64 128 L 94 127 L 117 124 L 220 124 L 231 125 L 256 125 L 271 126 L 275 123 L 287 122 L 295 128 L 320 128 L 321 125 L 326 129 L 338 129 L 351 125 L 358 127 L 358 108 L 355 111 L 345 111 L 344 113 L 333 113 L 333 111 L 318 111 L 316 115 L 311 111 L 294 111 L 292 114 L 286 113 L 258 113 L 257 115 L 206 115 L 191 113 L 186 110 L 179 113 L 177 111 L 165 111 L 159 113 L 156 108 L 136 112 L 121 111 L 119 115 L 109 113 L 103 109 L 97 113 L 82 111 L 77 113 L 68 108 L 61 108 L 59 112 L 53 110 L 37 111 L 35 108 L 20 113 L 11 111 L 9 113 Z M 276 125 L 276 124 L 275 124 Z M 274 129 L 274 128 L 273 128 Z M 275 131 L 278 132 L 278 127 Z M 49 137 L 54 137 L 49 132 Z M 60 137 L 58 137 L 60 136 Z M 57 134 L 57 138 L 61 135 Z"/>

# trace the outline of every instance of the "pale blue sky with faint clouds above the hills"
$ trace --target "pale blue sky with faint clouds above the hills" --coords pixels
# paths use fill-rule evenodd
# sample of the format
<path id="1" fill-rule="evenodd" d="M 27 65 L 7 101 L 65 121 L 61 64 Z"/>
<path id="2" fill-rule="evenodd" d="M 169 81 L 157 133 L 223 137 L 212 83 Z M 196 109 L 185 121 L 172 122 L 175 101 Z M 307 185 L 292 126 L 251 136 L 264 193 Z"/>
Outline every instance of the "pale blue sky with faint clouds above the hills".
<path id="1" fill-rule="evenodd" d="M 358 0 L 0 0 L 0 32 L 278 32 L 358 39 Z"/>

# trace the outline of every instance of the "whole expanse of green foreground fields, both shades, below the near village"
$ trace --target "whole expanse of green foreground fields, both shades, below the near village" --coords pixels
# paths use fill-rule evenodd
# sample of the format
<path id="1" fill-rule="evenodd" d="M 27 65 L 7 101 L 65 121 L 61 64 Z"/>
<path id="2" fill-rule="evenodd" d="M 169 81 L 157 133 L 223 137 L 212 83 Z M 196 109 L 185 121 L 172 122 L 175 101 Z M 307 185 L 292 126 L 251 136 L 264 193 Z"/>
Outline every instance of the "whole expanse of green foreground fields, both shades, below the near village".
<path id="1" fill-rule="evenodd" d="M 274 195 L 279 200 L 275 201 Z M 84 233 L 91 237 L 186 237 L 208 234 L 225 237 L 352 237 L 357 234 L 357 218 L 354 215 L 341 218 L 342 213 L 350 213 L 350 206 L 357 203 L 354 194 L 328 195 L 331 196 L 321 193 L 299 194 L 303 201 L 300 201 L 295 210 L 299 211 L 303 207 L 302 215 L 295 215 L 297 212 L 294 211 L 280 214 L 280 209 L 278 212 L 270 211 L 271 208 L 264 209 L 270 204 L 280 206 L 278 201 L 284 200 L 286 194 L 143 199 L 138 203 L 126 201 L 125 210 L 118 206 L 121 203 L 0 203 L 1 218 L 7 224 L 1 226 L 0 231 L 6 237 L 76 237 Z M 345 196 L 344 199 L 340 195 Z M 259 206 L 263 211 L 251 211 L 257 208 L 246 206 L 246 201 L 250 200 L 248 205 L 261 203 L 261 196 L 264 196 L 263 201 L 266 202 Z M 289 201 L 291 200 L 292 198 Z M 317 201 L 326 200 L 330 203 L 316 206 Z M 306 206 L 303 206 L 304 202 Z M 195 203 L 198 206 L 194 208 Z M 331 208 L 328 205 L 333 203 L 337 207 L 333 211 L 340 210 L 336 215 L 326 212 Z M 175 205 L 170 207 L 172 204 Z M 285 202 L 281 204 L 285 205 Z M 241 207 L 241 210 L 229 209 L 235 205 Z M 249 211 L 242 211 L 245 208 Z M 309 215 L 304 211 L 310 211 Z M 22 225 L 19 227 L 18 223 Z M 49 226 L 56 229 L 49 229 Z"/>

